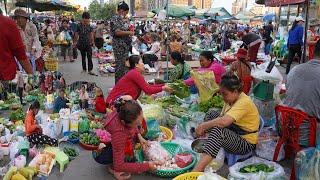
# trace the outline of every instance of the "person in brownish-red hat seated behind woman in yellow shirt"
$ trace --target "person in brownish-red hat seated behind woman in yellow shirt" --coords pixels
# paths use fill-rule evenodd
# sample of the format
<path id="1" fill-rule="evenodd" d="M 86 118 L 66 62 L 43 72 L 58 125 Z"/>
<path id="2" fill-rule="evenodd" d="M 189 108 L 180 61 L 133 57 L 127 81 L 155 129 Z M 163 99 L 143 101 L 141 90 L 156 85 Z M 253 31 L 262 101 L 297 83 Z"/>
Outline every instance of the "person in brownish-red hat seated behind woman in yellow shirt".
<path id="1" fill-rule="evenodd" d="M 251 64 L 248 61 L 247 50 L 239 48 L 237 52 L 237 61 L 231 64 L 231 72 L 236 74 L 243 85 L 243 92 L 248 94 L 251 87 Z"/>

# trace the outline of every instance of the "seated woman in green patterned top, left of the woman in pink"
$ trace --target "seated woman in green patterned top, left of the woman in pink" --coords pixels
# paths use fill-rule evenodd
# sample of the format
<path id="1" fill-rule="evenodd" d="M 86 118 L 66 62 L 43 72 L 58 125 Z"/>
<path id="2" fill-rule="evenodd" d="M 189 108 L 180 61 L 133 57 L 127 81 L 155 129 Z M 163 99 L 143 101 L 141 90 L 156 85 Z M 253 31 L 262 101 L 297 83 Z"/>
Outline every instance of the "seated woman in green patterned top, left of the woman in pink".
<path id="1" fill-rule="evenodd" d="M 186 80 L 190 77 L 190 66 L 184 62 L 179 52 L 172 52 L 170 55 L 170 62 L 174 65 L 174 68 L 169 71 L 168 80 L 174 82 L 176 80 Z"/>

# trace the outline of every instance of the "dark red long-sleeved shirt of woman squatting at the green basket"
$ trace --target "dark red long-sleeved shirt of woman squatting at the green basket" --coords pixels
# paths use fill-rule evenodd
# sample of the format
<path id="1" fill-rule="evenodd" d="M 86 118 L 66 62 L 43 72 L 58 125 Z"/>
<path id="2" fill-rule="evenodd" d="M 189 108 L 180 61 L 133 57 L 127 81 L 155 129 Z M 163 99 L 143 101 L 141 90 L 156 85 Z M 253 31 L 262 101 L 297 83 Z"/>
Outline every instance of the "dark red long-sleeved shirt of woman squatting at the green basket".
<path id="1" fill-rule="evenodd" d="M 113 168 L 118 172 L 143 173 L 149 170 L 148 163 L 128 163 L 125 156 L 128 149 L 134 149 L 134 140 L 137 138 L 138 129 L 125 126 L 121 123 L 116 112 L 108 116 L 107 131 L 111 134 L 113 153 Z M 128 143 L 129 142 L 129 143 Z M 128 147 L 128 145 L 130 147 Z"/>

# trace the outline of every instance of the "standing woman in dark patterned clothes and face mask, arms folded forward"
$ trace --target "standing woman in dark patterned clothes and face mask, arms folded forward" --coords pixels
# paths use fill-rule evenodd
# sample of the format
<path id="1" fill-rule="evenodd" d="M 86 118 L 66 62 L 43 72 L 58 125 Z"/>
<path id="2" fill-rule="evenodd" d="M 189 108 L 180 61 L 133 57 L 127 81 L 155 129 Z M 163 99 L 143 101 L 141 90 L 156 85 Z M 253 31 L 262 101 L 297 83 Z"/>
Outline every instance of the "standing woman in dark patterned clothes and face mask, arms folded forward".
<path id="1" fill-rule="evenodd" d="M 131 36 L 134 35 L 134 32 L 129 31 L 129 24 L 125 21 L 128 12 L 128 4 L 122 1 L 118 4 L 117 14 L 110 21 L 110 34 L 113 37 L 112 47 L 116 64 L 115 83 L 126 73 L 125 61 L 132 48 Z"/>

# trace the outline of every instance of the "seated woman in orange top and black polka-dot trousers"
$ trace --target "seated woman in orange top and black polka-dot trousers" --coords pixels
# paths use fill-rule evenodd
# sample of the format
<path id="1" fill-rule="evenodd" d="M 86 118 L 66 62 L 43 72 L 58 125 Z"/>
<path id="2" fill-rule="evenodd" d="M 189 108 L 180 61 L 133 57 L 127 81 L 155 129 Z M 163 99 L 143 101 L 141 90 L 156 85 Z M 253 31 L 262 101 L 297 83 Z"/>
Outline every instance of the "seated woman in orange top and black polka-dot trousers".
<path id="1" fill-rule="evenodd" d="M 40 109 L 39 101 L 34 101 L 28 111 L 25 123 L 25 131 L 28 138 L 28 141 L 33 145 L 50 145 L 50 146 L 58 146 L 58 140 L 50 138 L 49 136 L 42 134 L 41 127 L 36 122 L 36 115 L 38 114 Z"/>

